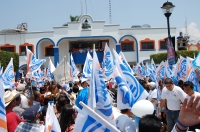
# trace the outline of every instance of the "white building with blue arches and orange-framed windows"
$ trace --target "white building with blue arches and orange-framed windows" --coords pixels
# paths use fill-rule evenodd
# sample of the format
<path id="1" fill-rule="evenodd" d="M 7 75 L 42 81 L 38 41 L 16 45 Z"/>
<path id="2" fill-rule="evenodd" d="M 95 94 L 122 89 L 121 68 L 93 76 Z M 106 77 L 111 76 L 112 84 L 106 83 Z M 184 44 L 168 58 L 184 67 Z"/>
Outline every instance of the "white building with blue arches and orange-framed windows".
<path id="1" fill-rule="evenodd" d="M 88 22 L 89 27 L 84 28 Z M 20 68 L 26 67 L 25 47 L 28 46 L 37 58 L 48 58 L 57 65 L 64 56 L 70 62 L 72 53 L 74 61 L 81 69 L 86 53 L 85 49 L 96 45 L 97 51 L 108 43 L 117 52 L 122 50 L 130 65 L 149 60 L 151 54 L 166 52 L 164 38 L 167 28 L 150 26 L 120 28 L 117 24 L 105 24 L 105 21 L 93 20 L 89 15 L 82 15 L 78 22 L 68 22 L 68 26 L 53 27 L 53 31 L 20 32 L 3 30 L 0 32 L 0 49 L 20 54 Z M 176 28 L 171 28 L 171 36 L 175 36 Z M 175 46 L 176 47 L 176 46 Z M 100 62 L 103 52 L 98 52 Z"/>

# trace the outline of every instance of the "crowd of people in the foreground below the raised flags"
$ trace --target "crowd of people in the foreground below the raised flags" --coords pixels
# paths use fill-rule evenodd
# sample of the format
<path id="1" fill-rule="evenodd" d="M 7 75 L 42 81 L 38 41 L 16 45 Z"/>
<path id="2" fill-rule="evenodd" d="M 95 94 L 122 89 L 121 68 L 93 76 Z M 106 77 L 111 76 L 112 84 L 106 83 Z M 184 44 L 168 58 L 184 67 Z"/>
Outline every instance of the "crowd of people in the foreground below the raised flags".
<path id="1" fill-rule="evenodd" d="M 182 132 L 200 129 L 200 93 L 194 91 L 192 82 L 182 82 L 180 87 L 171 78 L 159 80 L 158 84 L 148 77 L 138 79 L 148 91 L 147 100 L 152 102 L 154 112 L 137 120 L 130 109 L 117 109 L 118 86 L 114 79 L 106 82 L 113 98 L 116 127 L 122 132 Z M 73 132 L 78 111 L 74 108 L 82 101 L 88 104 L 88 80 L 78 78 L 60 86 L 46 81 L 44 87 L 34 87 L 31 80 L 16 80 L 13 90 L 5 89 L 4 100 L 8 132 L 44 131 L 48 103 L 54 104 L 54 113 L 62 132 Z M 195 101 L 194 101 L 195 100 Z M 144 104 L 145 105 L 145 104 Z"/>

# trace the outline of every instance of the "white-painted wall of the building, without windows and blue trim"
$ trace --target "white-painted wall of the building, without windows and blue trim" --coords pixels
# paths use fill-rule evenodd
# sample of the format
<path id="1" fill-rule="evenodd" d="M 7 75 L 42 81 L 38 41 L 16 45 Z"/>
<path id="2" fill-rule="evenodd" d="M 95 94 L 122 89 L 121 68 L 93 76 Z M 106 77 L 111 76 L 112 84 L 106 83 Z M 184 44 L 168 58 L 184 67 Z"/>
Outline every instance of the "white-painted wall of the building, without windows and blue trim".
<path id="1" fill-rule="evenodd" d="M 167 52 L 166 50 L 158 49 L 158 41 L 167 37 L 167 28 L 125 28 L 120 29 L 120 25 L 105 25 L 105 21 L 93 21 L 91 29 L 82 29 L 82 23 L 80 22 L 69 22 L 68 26 L 65 27 L 53 27 L 53 31 L 44 32 L 27 32 L 27 33 L 15 33 L 15 34 L 0 34 L 0 45 L 5 43 L 16 45 L 16 52 L 19 53 L 19 45 L 26 43 L 34 44 L 34 51 L 36 53 L 36 44 L 42 38 L 50 38 L 55 44 L 63 37 L 83 37 L 83 36 L 112 36 L 117 40 L 124 35 L 132 35 L 138 42 L 138 54 L 139 61 L 150 59 L 151 54 Z M 171 28 L 171 36 L 176 35 L 176 28 Z M 140 41 L 149 38 L 155 40 L 156 49 L 155 51 L 140 51 Z M 116 49 L 116 43 L 111 38 L 99 38 L 100 40 L 109 39 L 109 46 L 111 52 Z M 133 40 L 131 37 L 125 37 L 124 39 Z M 123 40 L 124 40 L 123 39 Z M 62 40 L 59 44 L 59 61 L 66 56 L 67 61 L 70 61 L 69 56 L 69 40 Z M 42 41 L 38 47 L 38 57 L 40 59 L 48 58 L 44 55 L 45 46 L 50 45 L 50 41 Z M 175 46 L 177 48 L 177 46 Z M 136 61 L 136 43 L 134 43 L 133 52 L 123 52 L 128 62 Z M 52 62 L 54 62 L 54 57 Z M 45 66 L 48 63 L 45 63 Z M 20 56 L 20 65 L 25 64 L 24 56 Z"/>

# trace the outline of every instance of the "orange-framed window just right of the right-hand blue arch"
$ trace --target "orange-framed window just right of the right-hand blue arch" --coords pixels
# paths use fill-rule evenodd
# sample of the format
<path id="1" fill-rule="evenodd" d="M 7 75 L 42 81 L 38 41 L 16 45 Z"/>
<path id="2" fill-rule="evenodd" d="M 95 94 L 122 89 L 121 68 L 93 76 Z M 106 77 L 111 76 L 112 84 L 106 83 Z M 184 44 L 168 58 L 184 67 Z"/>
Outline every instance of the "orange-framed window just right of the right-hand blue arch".
<path id="1" fill-rule="evenodd" d="M 140 41 L 140 50 L 154 50 L 155 49 L 155 41 L 146 38 L 145 40 Z"/>

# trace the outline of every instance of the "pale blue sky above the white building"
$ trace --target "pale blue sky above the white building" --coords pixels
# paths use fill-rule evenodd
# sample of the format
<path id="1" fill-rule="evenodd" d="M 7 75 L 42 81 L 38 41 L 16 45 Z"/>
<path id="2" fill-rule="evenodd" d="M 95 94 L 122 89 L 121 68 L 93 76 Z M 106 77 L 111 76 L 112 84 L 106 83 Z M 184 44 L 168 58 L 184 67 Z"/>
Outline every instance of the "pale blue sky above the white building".
<path id="1" fill-rule="evenodd" d="M 121 28 L 143 24 L 167 27 L 166 17 L 160 8 L 166 1 L 111 0 L 112 24 L 120 24 Z M 177 28 L 177 35 L 179 31 L 186 31 L 187 18 L 188 32 L 194 36 L 193 39 L 200 40 L 200 0 L 170 2 L 175 5 L 170 26 Z M 93 20 L 104 20 L 109 24 L 109 0 L 1 0 L 0 30 L 16 28 L 25 22 L 28 31 L 51 31 L 53 27 L 69 22 L 70 15 L 81 14 L 89 14 Z"/>

